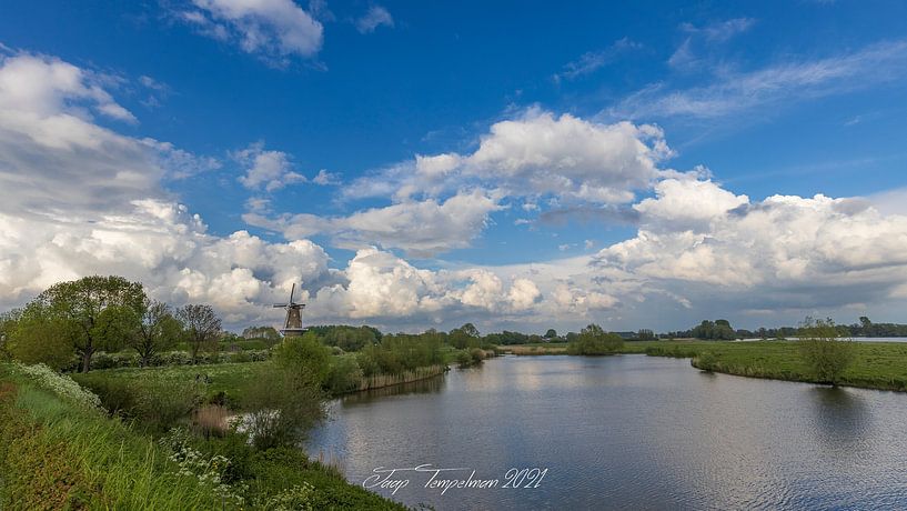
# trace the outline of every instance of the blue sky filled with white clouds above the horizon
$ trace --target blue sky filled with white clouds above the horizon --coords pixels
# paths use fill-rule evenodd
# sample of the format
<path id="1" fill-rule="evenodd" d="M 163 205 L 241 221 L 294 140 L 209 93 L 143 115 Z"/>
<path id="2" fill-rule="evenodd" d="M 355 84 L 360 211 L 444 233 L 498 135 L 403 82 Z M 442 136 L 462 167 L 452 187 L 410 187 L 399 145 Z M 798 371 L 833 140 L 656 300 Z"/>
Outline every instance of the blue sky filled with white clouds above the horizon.
<path id="1" fill-rule="evenodd" d="M 624 3 L 624 4 L 616 4 Z M 0 3 L 0 310 L 907 322 L 907 4 Z"/>

